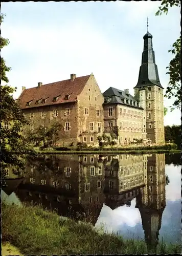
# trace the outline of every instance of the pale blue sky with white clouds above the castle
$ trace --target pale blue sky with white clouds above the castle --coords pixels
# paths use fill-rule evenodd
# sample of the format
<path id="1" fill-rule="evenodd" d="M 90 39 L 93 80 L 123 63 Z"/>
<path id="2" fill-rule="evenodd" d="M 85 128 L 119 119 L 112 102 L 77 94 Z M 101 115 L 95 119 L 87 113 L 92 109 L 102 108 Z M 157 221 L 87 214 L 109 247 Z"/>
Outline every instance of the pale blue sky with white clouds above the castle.
<path id="1" fill-rule="evenodd" d="M 180 8 L 168 15 L 155 16 L 161 1 L 140 2 L 9 2 L 2 3 L 6 17 L 2 36 L 10 44 L 1 56 L 12 68 L 9 84 L 36 87 L 43 84 L 94 73 L 103 93 L 109 87 L 129 89 L 138 82 L 143 52 L 143 36 L 153 35 L 155 61 L 162 86 L 169 76 L 168 53 L 180 35 Z M 165 92 L 165 90 L 164 90 Z M 173 100 L 164 99 L 168 108 Z M 181 112 L 175 110 L 164 118 L 165 125 L 181 124 Z"/>

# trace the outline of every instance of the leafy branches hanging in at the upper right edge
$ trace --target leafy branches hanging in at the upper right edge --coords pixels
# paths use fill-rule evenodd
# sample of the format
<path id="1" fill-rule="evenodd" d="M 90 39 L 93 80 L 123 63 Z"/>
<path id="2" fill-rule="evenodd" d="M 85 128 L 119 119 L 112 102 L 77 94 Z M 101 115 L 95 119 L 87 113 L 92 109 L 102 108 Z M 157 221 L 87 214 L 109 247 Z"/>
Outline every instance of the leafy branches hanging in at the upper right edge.
<path id="1" fill-rule="evenodd" d="M 155 13 L 155 15 L 168 14 L 169 7 L 180 7 L 180 1 L 178 0 L 163 0 L 159 10 Z M 168 72 L 166 74 L 169 75 L 169 83 L 166 89 L 165 97 L 170 99 L 172 96 L 174 97 L 173 106 L 170 107 L 171 111 L 175 108 L 181 109 L 181 36 L 174 42 L 172 45 L 172 49 L 168 52 L 171 52 L 174 57 L 171 59 L 169 66 L 166 67 Z"/>

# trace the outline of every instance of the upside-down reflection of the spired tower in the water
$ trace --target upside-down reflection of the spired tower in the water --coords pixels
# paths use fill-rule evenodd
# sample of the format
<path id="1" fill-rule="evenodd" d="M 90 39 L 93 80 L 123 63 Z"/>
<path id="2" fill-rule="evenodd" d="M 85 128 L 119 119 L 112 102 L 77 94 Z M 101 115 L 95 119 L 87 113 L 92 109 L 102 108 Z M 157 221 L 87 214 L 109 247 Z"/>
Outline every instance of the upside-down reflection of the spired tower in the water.
<path id="1" fill-rule="evenodd" d="M 147 248 L 156 253 L 162 215 L 166 207 L 165 154 L 153 154 L 147 160 L 147 181 L 136 207 L 141 214 Z"/>

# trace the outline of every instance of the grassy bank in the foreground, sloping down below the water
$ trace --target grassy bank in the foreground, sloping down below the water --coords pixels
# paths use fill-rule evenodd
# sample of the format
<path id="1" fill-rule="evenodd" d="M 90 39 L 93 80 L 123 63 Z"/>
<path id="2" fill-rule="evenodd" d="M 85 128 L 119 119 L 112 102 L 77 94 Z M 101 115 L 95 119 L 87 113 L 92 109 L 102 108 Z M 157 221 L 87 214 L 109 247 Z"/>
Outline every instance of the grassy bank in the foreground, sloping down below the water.
<path id="1" fill-rule="evenodd" d="M 60 220 L 39 206 L 22 207 L 2 203 L 2 240 L 22 254 L 147 254 L 140 240 L 123 240 L 115 234 L 99 233 L 92 225 Z M 180 245 L 157 246 L 158 254 L 181 253 Z"/>

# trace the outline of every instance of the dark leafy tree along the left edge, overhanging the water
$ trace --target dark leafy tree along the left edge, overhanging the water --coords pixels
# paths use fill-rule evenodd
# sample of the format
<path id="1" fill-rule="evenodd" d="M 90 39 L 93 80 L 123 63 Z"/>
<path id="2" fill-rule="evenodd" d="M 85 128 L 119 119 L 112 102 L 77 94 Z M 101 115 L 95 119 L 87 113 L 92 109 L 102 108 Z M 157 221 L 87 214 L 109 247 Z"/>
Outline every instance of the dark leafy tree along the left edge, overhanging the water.
<path id="1" fill-rule="evenodd" d="M 1 15 L 1 24 L 4 15 Z M 1 36 L 1 49 L 9 44 L 9 40 Z M 11 68 L 6 66 L 4 58 L 1 58 L 1 81 L 8 82 L 6 72 Z M 25 119 L 17 101 L 13 99 L 13 92 L 16 88 L 12 88 L 7 84 L 1 86 L 1 181 L 2 186 L 5 185 L 5 168 L 9 166 L 15 167 L 16 170 L 25 169 L 22 156 L 33 156 L 36 153 L 30 149 L 27 140 L 21 135 L 21 129 L 28 121 Z"/>

